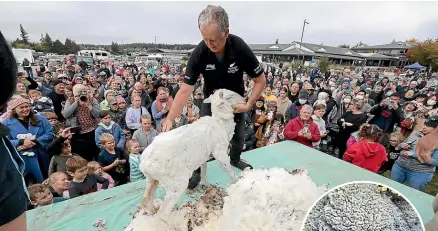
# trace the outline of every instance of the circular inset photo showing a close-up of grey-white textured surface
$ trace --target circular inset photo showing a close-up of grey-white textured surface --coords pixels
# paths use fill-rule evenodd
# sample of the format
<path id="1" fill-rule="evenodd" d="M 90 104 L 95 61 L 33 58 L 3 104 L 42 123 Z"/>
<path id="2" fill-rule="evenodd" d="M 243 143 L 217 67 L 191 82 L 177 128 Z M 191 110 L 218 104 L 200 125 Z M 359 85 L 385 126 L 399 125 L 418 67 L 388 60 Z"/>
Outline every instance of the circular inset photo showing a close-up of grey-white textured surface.
<path id="1" fill-rule="evenodd" d="M 368 181 L 350 182 L 326 192 L 310 209 L 304 231 L 423 231 L 424 224 L 404 196 Z"/>

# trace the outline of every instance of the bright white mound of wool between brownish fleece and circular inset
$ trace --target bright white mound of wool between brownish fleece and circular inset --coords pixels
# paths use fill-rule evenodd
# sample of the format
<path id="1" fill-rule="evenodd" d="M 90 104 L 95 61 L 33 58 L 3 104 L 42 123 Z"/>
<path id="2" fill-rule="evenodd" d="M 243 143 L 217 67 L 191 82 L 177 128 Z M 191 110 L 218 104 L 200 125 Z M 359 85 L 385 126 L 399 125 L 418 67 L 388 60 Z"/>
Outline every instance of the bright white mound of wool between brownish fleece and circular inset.
<path id="1" fill-rule="evenodd" d="M 244 171 L 227 189 L 222 216 L 195 230 L 298 231 L 326 190 L 303 169 L 291 173 L 282 168 Z"/>

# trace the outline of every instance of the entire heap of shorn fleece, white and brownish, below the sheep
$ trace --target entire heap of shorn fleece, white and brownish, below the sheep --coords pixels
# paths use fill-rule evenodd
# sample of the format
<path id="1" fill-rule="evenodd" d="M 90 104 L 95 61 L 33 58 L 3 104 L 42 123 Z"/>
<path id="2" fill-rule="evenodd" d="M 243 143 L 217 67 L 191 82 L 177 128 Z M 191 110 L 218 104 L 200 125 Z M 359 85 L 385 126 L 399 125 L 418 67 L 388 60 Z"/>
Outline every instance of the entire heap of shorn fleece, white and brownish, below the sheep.
<path id="1" fill-rule="evenodd" d="M 228 196 L 212 187 L 199 201 L 181 204 L 166 221 L 137 214 L 125 231 L 299 231 L 307 211 L 327 191 L 306 170 L 282 168 L 243 171 L 227 188 Z"/>

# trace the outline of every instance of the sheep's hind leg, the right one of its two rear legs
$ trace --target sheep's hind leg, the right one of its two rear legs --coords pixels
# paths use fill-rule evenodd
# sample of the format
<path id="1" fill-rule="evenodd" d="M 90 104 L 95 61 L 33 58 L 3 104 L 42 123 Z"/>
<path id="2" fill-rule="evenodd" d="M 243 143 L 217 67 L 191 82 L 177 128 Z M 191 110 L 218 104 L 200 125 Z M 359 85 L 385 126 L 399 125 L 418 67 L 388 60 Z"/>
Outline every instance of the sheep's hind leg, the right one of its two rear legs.
<path id="1" fill-rule="evenodd" d="M 164 197 L 164 201 L 161 204 L 157 215 L 164 219 L 170 214 L 170 212 L 172 212 L 173 207 L 182 194 L 184 194 L 184 191 L 189 184 L 189 179 L 174 179 L 172 183 L 173 184 L 170 185 L 163 185 L 163 188 L 166 191 L 166 196 Z"/>

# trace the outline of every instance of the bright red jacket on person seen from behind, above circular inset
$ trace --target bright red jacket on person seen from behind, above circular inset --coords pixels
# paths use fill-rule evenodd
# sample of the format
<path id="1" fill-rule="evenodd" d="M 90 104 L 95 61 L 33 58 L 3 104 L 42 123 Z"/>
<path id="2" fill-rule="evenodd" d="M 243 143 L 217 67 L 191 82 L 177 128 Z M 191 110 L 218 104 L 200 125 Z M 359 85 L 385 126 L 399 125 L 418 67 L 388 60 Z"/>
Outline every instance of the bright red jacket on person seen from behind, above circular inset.
<path id="1" fill-rule="evenodd" d="M 343 159 L 371 172 L 378 172 L 380 166 L 388 161 L 383 145 L 365 139 L 348 147 Z"/>

